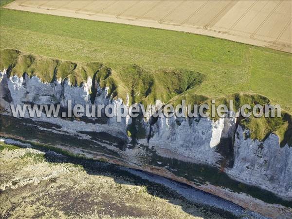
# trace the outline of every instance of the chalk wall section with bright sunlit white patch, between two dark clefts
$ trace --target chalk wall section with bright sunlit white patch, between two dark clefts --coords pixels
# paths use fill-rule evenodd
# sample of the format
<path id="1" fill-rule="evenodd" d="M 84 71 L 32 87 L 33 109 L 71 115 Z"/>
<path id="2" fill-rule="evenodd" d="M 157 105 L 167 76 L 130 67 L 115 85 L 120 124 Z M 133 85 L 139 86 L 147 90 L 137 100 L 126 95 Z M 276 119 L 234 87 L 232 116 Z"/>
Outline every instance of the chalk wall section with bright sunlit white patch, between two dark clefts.
<path id="1" fill-rule="evenodd" d="M 213 121 L 200 118 L 190 121 L 186 118 L 163 116 L 152 125 L 148 145 L 153 146 L 161 156 L 166 154 L 160 149 L 166 149 L 171 152 L 166 156 L 171 158 L 181 156 L 186 161 L 216 165 L 221 158 L 216 152 L 216 145 L 220 142 L 225 120 L 228 119 Z M 147 144 L 147 139 L 141 139 L 139 143 Z"/>

